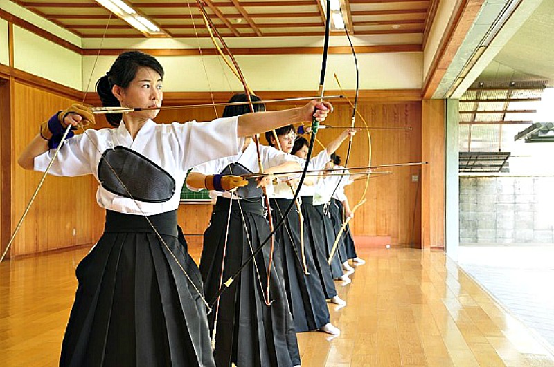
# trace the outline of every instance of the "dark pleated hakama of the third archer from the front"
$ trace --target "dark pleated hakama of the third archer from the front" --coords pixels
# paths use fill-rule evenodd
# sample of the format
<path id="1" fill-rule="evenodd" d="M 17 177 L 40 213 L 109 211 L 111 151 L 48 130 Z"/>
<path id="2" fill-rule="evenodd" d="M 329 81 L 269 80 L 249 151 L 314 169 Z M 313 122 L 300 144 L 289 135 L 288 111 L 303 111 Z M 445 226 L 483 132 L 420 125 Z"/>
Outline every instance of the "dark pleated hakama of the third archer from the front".
<path id="1" fill-rule="evenodd" d="M 271 199 L 274 225 L 283 218 L 291 202 L 290 199 Z M 279 243 L 283 281 L 296 332 L 318 330 L 330 322 L 327 301 L 314 265 L 312 247 L 307 241 L 307 234 L 304 234 L 304 237 L 308 275 L 303 271 L 300 222 L 298 211 L 294 206 L 289 211 L 285 223 L 278 229 L 276 241 Z"/>

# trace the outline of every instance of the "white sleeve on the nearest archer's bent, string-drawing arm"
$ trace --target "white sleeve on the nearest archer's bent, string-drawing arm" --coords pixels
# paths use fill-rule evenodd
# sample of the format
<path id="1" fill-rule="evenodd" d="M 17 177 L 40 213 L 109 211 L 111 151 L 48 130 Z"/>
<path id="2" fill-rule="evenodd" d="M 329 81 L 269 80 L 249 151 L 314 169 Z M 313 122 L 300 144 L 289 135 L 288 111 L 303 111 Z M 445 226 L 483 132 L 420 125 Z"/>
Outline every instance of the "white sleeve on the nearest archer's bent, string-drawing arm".
<path id="1" fill-rule="evenodd" d="M 48 173 L 53 176 L 84 176 L 93 173 L 90 159 L 91 144 L 87 144 L 83 135 L 75 135 L 64 142 L 63 147 L 57 153 L 57 157 L 50 167 Z M 55 149 L 45 151 L 40 156 L 35 157 L 35 171 L 44 172 L 54 156 Z"/>

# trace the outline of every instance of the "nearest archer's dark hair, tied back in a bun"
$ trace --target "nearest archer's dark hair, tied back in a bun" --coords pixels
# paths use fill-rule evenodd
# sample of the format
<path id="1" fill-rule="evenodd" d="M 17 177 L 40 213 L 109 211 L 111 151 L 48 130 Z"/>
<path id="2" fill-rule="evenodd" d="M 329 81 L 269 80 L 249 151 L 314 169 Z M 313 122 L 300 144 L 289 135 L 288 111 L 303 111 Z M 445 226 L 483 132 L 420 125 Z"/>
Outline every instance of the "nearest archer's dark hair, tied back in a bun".
<path id="1" fill-rule="evenodd" d="M 96 82 L 96 93 L 98 93 L 100 101 L 102 101 L 102 106 L 120 106 L 119 100 L 114 93 L 111 92 L 111 88 L 113 88 L 114 85 L 127 88 L 136 77 L 139 68 L 151 68 L 163 79 L 163 68 L 154 57 L 146 53 L 141 53 L 141 51 L 127 51 L 121 53 L 114 64 L 111 65 L 106 75 Z M 117 127 L 122 117 L 123 115 L 121 115 L 121 113 L 108 113 L 106 115 L 106 120 L 108 120 L 111 126 Z"/>

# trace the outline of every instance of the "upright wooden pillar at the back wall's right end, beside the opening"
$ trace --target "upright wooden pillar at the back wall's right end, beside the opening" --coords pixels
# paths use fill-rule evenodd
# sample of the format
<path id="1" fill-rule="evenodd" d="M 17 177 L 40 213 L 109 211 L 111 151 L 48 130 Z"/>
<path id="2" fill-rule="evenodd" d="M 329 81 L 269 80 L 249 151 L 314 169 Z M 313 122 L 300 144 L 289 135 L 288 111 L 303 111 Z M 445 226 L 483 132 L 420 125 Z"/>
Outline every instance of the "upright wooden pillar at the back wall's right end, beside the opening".
<path id="1" fill-rule="evenodd" d="M 422 247 L 445 247 L 445 101 L 423 100 Z"/>

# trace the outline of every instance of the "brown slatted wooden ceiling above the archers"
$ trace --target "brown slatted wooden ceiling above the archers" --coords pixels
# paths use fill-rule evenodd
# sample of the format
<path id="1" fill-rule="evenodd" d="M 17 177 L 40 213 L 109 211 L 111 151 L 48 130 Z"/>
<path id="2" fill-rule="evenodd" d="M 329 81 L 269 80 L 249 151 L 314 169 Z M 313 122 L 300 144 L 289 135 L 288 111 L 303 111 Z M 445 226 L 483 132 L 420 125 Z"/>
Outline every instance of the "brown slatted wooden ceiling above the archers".
<path id="1" fill-rule="evenodd" d="M 112 16 L 94 0 L 12 0 L 83 38 L 144 37 Z M 207 37 L 195 1 L 126 1 L 170 37 Z M 389 44 L 402 35 L 425 43 L 437 0 L 342 0 L 353 35 L 386 35 Z M 319 0 L 204 0 L 205 8 L 225 37 L 321 36 L 324 15 Z M 108 21 L 109 20 L 109 21 Z M 343 31 L 341 31 L 343 34 Z M 397 39 L 395 39 L 397 37 Z M 413 41 L 410 41 L 413 44 Z"/>

